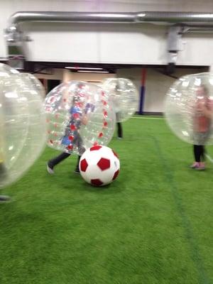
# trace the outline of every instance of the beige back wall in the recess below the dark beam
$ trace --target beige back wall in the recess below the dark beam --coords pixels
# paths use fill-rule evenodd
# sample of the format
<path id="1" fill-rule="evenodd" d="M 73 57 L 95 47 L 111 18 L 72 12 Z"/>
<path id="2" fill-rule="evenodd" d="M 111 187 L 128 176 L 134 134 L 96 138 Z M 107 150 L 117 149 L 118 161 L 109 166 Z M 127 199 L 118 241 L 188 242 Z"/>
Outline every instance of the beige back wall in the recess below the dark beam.
<path id="1" fill-rule="evenodd" d="M 146 68 L 146 80 L 145 80 L 145 94 L 143 101 L 143 111 L 145 112 L 163 112 L 165 94 L 175 79 L 163 75 L 163 70 L 160 68 Z M 200 72 L 206 72 L 207 70 L 195 69 L 195 68 L 176 68 L 175 77 L 181 77 L 183 75 L 195 74 Z M 121 68 L 117 70 L 116 74 L 96 74 L 96 73 L 78 73 L 70 72 L 65 69 L 53 70 L 53 75 L 35 74 L 40 79 L 47 80 L 60 80 L 68 82 L 70 80 L 80 80 L 86 82 L 94 82 L 99 84 L 102 80 L 108 77 L 123 77 L 131 80 L 138 89 L 138 94 L 141 94 L 141 77 L 142 68 Z M 139 110 L 139 105 L 138 105 Z"/>

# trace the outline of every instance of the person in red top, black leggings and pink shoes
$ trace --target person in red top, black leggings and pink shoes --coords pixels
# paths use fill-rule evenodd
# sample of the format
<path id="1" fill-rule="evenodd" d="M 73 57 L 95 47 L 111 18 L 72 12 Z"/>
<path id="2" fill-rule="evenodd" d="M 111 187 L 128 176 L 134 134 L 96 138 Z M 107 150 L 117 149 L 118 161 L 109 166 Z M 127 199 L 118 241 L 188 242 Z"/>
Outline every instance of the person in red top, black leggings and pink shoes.
<path id="1" fill-rule="evenodd" d="M 212 126 L 213 101 L 209 97 L 209 91 L 204 84 L 196 91 L 195 111 L 193 115 L 193 152 L 195 162 L 191 168 L 196 170 L 205 169 L 205 147 Z"/>

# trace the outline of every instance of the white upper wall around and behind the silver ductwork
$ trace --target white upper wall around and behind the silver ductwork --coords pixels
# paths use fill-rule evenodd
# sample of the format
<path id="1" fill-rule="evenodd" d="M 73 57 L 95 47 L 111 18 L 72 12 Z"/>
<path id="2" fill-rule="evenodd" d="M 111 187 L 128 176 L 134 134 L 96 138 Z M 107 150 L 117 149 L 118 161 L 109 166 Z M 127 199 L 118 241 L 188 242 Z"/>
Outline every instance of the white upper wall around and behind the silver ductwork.
<path id="1" fill-rule="evenodd" d="M 4 28 L 16 11 L 208 11 L 211 0 L 0 0 L 0 58 L 6 58 Z M 28 43 L 28 60 L 165 64 L 165 26 L 152 24 L 27 23 L 23 30 Z M 213 34 L 185 34 L 180 65 L 210 65 Z"/>

